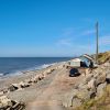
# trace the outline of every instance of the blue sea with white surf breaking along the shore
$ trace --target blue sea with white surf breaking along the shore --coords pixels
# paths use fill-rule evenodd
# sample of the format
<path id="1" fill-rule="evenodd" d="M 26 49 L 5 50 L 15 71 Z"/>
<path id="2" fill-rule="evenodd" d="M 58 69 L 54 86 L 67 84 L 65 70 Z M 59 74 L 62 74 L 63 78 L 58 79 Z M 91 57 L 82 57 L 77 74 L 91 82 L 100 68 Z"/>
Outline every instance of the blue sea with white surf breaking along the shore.
<path id="1" fill-rule="evenodd" d="M 70 57 L 0 57 L 0 77 L 21 75 L 25 70 L 40 70 Z"/>

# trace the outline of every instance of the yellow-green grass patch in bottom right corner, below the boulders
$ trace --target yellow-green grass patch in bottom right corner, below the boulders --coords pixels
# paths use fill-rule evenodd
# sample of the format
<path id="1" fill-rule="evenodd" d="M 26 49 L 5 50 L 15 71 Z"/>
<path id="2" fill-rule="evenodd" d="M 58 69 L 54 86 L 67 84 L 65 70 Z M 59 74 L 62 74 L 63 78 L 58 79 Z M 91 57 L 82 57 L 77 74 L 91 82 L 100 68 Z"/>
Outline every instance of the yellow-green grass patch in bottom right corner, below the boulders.
<path id="1" fill-rule="evenodd" d="M 110 85 L 107 86 L 105 95 L 100 99 L 88 100 L 76 110 L 110 110 Z"/>

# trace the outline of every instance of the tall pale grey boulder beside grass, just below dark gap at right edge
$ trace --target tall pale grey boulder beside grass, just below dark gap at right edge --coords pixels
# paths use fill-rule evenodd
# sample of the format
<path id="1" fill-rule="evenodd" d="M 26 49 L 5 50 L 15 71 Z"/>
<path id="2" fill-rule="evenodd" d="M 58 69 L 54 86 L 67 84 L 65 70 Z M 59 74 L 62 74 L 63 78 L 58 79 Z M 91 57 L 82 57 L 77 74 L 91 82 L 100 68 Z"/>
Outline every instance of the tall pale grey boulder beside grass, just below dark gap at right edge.
<path id="1" fill-rule="evenodd" d="M 107 82 L 100 84 L 100 85 L 97 87 L 96 99 L 102 97 L 102 95 L 103 95 L 103 92 L 105 92 L 106 86 L 107 86 Z"/>

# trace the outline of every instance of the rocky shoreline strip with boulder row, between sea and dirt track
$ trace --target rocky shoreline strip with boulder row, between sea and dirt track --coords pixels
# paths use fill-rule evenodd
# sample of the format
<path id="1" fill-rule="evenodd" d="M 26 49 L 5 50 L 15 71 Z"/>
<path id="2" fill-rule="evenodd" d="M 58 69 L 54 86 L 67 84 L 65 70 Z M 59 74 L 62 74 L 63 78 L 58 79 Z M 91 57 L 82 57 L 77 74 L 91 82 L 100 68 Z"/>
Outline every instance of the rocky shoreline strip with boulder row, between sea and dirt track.
<path id="1" fill-rule="evenodd" d="M 41 70 L 25 72 L 23 75 L 18 77 L 7 77 L 0 80 L 0 110 L 22 110 L 25 107 L 24 102 L 20 100 L 11 100 L 8 96 L 10 92 L 21 91 L 28 87 L 31 87 L 38 81 L 43 80 L 55 69 L 63 66 L 64 63 L 57 63 L 53 66 Z"/>

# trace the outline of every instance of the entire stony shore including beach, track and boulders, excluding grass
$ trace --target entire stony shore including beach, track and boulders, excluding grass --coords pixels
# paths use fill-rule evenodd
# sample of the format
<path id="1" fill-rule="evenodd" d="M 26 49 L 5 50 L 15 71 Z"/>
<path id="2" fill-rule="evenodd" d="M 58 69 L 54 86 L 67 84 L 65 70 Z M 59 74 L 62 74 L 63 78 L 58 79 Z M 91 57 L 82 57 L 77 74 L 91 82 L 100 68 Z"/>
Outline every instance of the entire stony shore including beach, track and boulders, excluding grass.
<path id="1" fill-rule="evenodd" d="M 102 97 L 110 85 L 110 61 L 78 77 L 69 77 L 66 65 L 67 62 L 59 63 L 0 80 L 0 110 L 44 110 L 44 107 L 45 110 L 48 107 L 73 110 L 90 99 Z"/>

